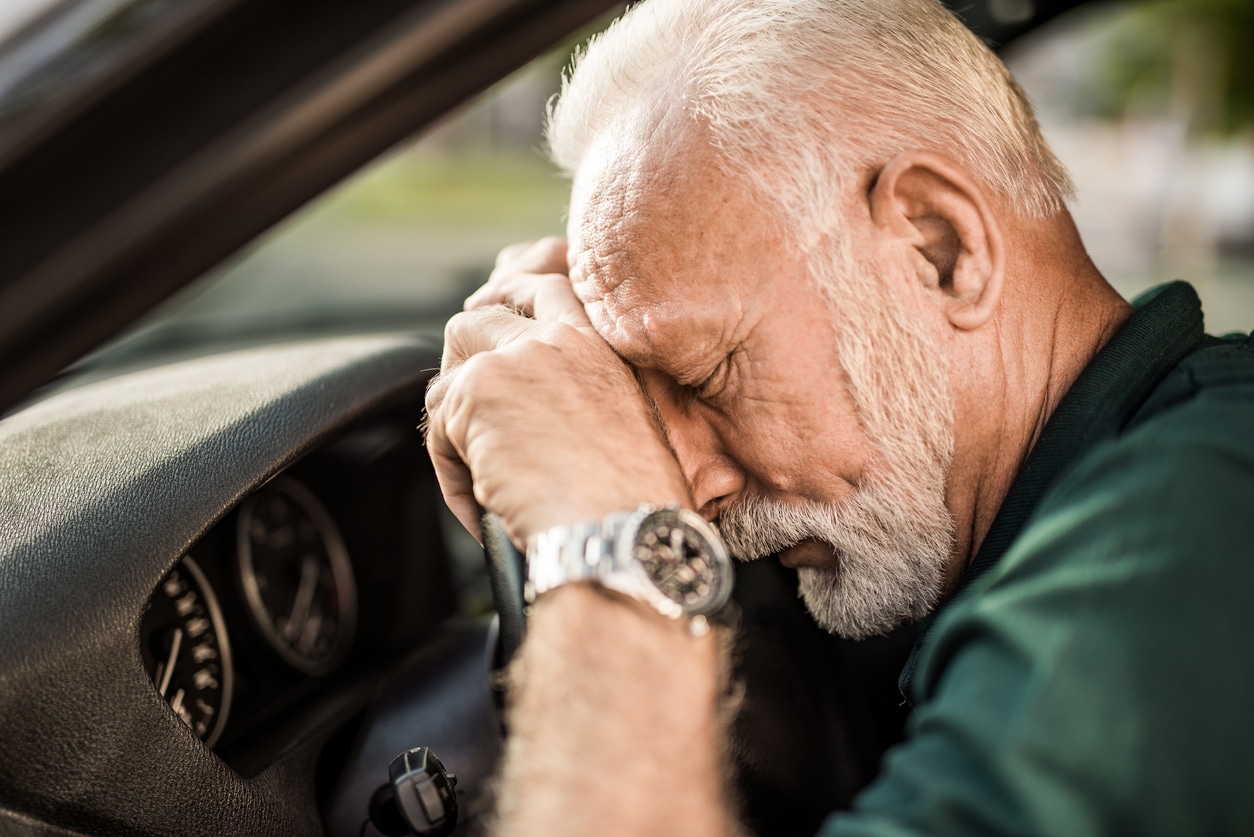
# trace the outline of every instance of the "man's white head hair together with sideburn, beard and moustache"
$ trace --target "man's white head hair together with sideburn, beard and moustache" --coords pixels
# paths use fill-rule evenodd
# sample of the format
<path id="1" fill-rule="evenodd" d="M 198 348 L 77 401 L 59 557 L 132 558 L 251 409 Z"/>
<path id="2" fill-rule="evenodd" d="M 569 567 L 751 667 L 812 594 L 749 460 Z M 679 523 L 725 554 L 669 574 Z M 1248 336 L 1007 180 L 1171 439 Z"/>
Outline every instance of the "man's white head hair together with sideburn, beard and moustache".
<path id="1" fill-rule="evenodd" d="M 874 448 L 851 497 L 746 497 L 724 511 L 724 532 L 744 557 L 826 542 L 836 567 L 800 580 L 830 630 L 917 619 L 940 596 L 954 543 L 949 370 L 882 281 L 894 266 L 854 252 L 843 216 L 908 149 L 949 156 L 1020 216 L 1062 211 L 1071 181 L 1023 92 L 935 0 L 645 0 L 577 55 L 549 107 L 554 161 L 574 174 L 637 114 L 683 117 L 804 251 Z"/>

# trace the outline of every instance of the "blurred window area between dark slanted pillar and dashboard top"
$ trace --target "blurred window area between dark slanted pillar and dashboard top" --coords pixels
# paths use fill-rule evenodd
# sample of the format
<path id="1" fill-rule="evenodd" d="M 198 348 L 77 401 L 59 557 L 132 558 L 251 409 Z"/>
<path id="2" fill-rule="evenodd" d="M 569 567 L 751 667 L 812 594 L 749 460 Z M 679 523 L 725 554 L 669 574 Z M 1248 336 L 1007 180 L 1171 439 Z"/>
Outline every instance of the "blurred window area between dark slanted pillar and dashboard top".
<path id="1" fill-rule="evenodd" d="M 542 149 L 569 44 L 532 61 L 189 286 L 80 364 L 147 364 L 342 333 L 439 334 L 507 243 L 561 235 Z"/>

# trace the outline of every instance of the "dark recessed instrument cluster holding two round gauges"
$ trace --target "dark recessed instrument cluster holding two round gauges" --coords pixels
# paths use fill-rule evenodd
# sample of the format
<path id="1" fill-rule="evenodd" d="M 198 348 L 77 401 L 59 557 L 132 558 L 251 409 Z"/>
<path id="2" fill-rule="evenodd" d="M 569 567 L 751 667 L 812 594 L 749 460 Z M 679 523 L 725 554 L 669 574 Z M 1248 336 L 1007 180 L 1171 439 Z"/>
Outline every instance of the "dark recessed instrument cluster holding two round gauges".
<path id="1" fill-rule="evenodd" d="M 260 769 L 258 742 L 456 611 L 438 503 L 409 418 L 275 477 L 154 587 L 138 636 L 153 688 L 228 763 Z"/>

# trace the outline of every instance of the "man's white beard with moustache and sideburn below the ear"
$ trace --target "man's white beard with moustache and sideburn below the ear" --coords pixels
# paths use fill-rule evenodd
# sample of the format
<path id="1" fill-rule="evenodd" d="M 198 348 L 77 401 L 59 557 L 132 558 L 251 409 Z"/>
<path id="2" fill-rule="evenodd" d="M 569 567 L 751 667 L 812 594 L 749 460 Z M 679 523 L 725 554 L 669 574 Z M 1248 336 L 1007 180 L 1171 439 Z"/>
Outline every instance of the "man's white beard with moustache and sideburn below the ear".
<path id="1" fill-rule="evenodd" d="M 824 266 L 816 280 L 828 289 L 840 363 L 874 454 L 840 502 L 747 497 L 724 509 L 720 527 L 745 560 L 806 538 L 829 545 L 835 566 L 803 567 L 801 597 L 824 629 L 864 639 L 924 616 L 944 590 L 953 402 L 942 353 L 877 271 L 848 251 Z"/>

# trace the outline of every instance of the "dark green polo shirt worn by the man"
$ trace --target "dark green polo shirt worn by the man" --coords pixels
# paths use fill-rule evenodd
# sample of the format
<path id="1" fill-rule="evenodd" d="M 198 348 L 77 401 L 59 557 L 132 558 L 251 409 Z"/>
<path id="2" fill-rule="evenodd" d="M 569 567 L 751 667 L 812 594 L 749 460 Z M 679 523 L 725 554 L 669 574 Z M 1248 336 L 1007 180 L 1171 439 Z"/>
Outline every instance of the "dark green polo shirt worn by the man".
<path id="1" fill-rule="evenodd" d="M 903 675 L 830 837 L 1254 834 L 1254 338 L 1140 301 Z"/>

